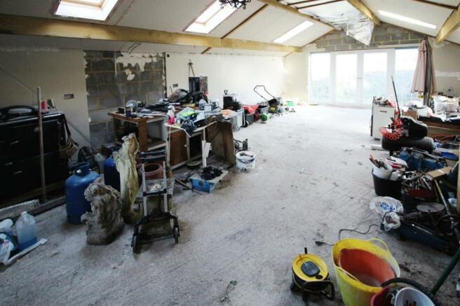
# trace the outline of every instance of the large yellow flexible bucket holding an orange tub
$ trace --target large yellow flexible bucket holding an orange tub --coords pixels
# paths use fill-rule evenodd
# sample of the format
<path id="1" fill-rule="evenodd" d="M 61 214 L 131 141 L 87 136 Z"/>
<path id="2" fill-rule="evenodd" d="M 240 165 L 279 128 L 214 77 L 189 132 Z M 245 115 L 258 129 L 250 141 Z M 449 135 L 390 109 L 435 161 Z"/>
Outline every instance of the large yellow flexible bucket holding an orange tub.
<path id="1" fill-rule="evenodd" d="M 380 246 L 379 246 L 380 245 Z M 360 240 L 346 238 L 341 239 L 332 246 L 332 261 L 334 262 L 337 285 L 341 298 L 346 306 L 369 306 L 372 295 L 381 291 L 381 287 L 368 286 L 353 277 L 349 272 L 339 267 L 339 256 L 343 249 L 360 249 L 370 252 L 385 260 L 395 272 L 395 277 L 400 276 L 399 265 L 391 255 L 385 242 L 377 238 Z"/>

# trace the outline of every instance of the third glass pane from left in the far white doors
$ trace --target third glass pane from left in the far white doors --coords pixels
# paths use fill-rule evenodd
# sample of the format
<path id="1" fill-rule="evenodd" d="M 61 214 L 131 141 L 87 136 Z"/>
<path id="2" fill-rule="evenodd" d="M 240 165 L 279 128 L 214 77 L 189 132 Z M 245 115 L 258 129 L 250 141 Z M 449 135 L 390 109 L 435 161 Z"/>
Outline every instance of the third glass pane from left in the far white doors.
<path id="1" fill-rule="evenodd" d="M 373 97 L 386 97 L 386 52 L 364 53 L 363 58 L 363 104 L 370 105 Z"/>

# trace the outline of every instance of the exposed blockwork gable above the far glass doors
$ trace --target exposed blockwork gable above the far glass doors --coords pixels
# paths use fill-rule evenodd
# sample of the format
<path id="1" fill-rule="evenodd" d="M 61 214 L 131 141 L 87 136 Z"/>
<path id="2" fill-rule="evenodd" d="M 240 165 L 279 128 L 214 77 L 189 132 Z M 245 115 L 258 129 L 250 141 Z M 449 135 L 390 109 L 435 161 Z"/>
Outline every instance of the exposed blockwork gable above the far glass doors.
<path id="1" fill-rule="evenodd" d="M 403 45 L 407 43 L 420 43 L 424 39 L 424 35 L 412 32 L 408 29 L 395 27 L 382 23 L 380 27 L 374 27 L 372 32 L 372 40 L 369 46 L 356 41 L 345 32 L 332 32 L 323 37 L 320 37 L 313 43 L 316 48 L 324 48 L 325 51 L 345 51 L 359 49 L 374 49 L 385 45 Z"/>

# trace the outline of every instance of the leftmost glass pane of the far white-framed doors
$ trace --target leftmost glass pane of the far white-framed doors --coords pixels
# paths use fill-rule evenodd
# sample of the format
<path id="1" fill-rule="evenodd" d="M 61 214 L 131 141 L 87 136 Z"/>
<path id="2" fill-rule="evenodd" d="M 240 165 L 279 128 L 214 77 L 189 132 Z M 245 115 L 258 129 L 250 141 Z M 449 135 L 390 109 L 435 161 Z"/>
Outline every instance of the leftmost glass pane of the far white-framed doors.
<path id="1" fill-rule="evenodd" d="M 313 53 L 310 57 L 309 97 L 314 104 L 330 102 L 330 53 Z"/>

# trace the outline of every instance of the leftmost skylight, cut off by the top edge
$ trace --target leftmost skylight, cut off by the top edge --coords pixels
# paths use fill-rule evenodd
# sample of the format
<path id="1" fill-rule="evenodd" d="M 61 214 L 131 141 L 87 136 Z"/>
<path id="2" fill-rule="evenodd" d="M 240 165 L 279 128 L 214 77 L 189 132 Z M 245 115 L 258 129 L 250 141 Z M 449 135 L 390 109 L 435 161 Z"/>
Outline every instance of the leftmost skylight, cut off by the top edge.
<path id="1" fill-rule="evenodd" d="M 106 20 L 118 0 L 61 0 L 55 15 Z"/>

